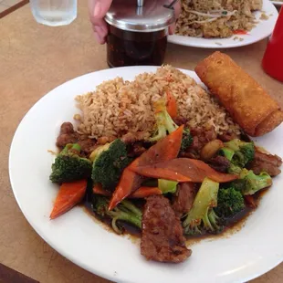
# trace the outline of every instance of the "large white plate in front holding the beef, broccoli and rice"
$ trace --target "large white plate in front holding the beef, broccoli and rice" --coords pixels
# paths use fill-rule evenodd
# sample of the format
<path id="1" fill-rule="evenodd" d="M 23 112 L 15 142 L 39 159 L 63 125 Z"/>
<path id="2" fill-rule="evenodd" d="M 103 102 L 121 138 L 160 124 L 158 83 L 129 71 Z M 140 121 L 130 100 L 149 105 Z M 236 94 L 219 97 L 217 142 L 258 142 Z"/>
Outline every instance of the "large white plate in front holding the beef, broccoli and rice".
<path id="1" fill-rule="evenodd" d="M 203 240 L 191 246 L 192 257 L 178 265 L 148 262 L 140 246 L 127 237 L 106 231 L 76 207 L 54 221 L 48 215 L 58 186 L 48 181 L 58 130 L 63 121 L 72 121 L 75 96 L 95 89 L 103 80 L 117 76 L 134 79 L 155 67 L 112 68 L 72 79 L 50 91 L 28 111 L 11 145 L 9 173 L 16 201 L 37 233 L 80 267 L 103 278 L 135 283 L 235 283 L 244 282 L 277 266 L 283 258 L 283 176 L 251 215 L 246 226 L 228 238 Z M 192 71 L 183 70 L 194 77 Z M 271 152 L 283 156 L 283 127 L 258 139 Z"/>

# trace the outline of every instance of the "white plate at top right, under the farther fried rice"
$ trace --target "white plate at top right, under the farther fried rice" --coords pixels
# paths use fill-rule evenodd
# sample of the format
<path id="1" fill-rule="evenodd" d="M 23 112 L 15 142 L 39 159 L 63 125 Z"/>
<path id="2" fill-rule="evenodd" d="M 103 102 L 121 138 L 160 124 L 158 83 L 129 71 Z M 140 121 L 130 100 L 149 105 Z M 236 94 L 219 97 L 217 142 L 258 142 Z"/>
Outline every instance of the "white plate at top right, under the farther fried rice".
<path id="1" fill-rule="evenodd" d="M 247 35 L 235 35 L 228 38 L 204 38 L 204 37 L 183 37 L 183 36 L 169 36 L 168 42 L 179 44 L 187 47 L 202 47 L 202 48 L 231 48 L 231 47 L 244 47 L 250 45 L 257 41 L 260 41 L 272 34 L 276 21 L 278 19 L 278 10 L 269 1 L 263 0 L 263 8 L 268 19 L 260 20 L 262 12 L 255 12 L 257 20 L 259 23 Z M 234 40 L 233 38 L 239 37 L 244 40 L 239 39 Z"/>

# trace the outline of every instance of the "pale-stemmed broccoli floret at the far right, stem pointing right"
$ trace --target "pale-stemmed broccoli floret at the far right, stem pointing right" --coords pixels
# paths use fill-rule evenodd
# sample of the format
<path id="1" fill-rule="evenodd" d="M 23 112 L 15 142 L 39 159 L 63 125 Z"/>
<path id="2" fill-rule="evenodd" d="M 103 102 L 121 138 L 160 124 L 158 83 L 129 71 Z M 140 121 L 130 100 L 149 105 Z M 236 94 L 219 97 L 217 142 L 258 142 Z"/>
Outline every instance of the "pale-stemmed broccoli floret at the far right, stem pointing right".
<path id="1" fill-rule="evenodd" d="M 256 194 L 259 190 L 272 184 L 272 178 L 266 172 L 256 175 L 252 170 L 243 169 L 240 173 L 240 179 L 245 182 L 242 194 Z"/>

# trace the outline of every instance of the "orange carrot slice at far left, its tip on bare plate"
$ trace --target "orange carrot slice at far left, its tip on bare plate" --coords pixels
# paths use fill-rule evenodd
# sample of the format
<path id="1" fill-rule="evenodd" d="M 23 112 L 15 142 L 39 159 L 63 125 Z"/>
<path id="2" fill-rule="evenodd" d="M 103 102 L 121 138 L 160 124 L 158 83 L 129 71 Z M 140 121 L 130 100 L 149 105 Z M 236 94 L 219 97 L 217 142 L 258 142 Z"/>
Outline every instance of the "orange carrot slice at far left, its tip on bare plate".
<path id="1" fill-rule="evenodd" d="M 79 180 L 71 183 L 62 183 L 50 215 L 54 219 L 63 215 L 76 204 L 79 204 L 86 194 L 87 180 Z"/>

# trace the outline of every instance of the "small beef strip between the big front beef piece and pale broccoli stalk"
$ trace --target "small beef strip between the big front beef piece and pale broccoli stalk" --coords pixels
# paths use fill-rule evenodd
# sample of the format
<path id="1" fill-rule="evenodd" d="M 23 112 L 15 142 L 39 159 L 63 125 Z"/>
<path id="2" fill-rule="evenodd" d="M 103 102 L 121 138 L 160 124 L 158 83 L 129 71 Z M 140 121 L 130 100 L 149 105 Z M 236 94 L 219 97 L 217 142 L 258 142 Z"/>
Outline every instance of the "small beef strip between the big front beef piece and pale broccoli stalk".
<path id="1" fill-rule="evenodd" d="M 194 183 L 179 183 L 177 192 L 173 195 L 173 211 L 175 215 L 181 218 L 185 213 L 188 213 L 194 203 L 196 194 L 196 185 Z"/>

